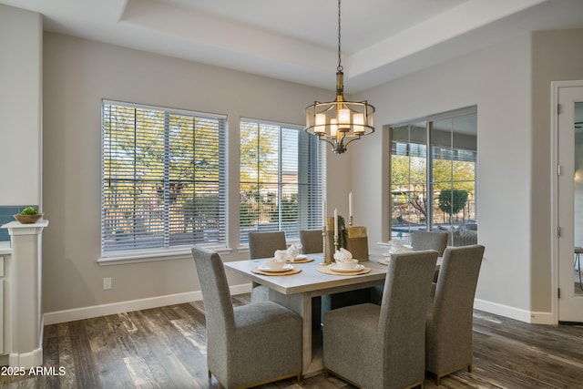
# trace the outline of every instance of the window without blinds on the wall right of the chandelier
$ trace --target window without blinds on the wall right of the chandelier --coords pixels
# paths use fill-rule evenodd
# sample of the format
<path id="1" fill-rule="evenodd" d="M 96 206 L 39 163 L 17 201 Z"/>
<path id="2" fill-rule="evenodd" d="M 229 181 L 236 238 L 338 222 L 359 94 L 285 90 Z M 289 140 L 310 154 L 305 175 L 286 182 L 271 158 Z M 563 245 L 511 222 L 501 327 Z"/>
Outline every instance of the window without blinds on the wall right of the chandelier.
<path id="1" fill-rule="evenodd" d="M 476 128 L 475 107 L 392 126 L 392 240 L 444 230 L 450 245 L 476 243 Z"/>

